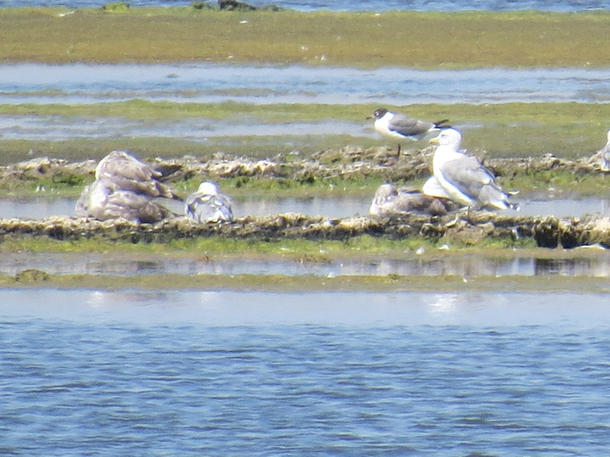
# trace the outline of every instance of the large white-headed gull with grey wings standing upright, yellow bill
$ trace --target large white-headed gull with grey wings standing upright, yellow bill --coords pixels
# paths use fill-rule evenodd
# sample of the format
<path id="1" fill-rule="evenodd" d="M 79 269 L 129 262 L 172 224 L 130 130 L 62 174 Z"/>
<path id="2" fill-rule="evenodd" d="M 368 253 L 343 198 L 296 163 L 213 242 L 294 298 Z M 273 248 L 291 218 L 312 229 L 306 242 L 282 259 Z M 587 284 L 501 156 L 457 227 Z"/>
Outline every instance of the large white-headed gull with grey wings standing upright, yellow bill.
<path id="1" fill-rule="evenodd" d="M 439 145 L 434 151 L 432 169 L 434 177 L 451 200 L 468 208 L 505 210 L 516 207 L 495 182 L 492 172 L 476 157 L 459 151 L 462 134 L 458 130 L 444 129 L 429 142 Z"/>

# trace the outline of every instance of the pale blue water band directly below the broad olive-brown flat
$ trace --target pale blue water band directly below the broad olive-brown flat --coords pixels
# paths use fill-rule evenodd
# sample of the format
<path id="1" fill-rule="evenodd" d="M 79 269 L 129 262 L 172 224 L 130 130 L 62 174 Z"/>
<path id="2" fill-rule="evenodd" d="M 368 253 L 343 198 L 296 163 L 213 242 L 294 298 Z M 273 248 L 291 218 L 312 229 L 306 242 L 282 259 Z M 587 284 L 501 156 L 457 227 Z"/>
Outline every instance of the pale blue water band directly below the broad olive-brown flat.
<path id="1" fill-rule="evenodd" d="M 131 99 L 380 105 L 605 102 L 610 99 L 610 87 L 605 70 L 586 68 L 425 71 L 212 63 L 0 65 L 2 104 Z"/>

